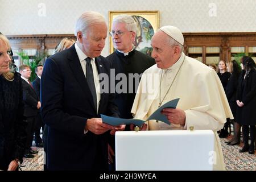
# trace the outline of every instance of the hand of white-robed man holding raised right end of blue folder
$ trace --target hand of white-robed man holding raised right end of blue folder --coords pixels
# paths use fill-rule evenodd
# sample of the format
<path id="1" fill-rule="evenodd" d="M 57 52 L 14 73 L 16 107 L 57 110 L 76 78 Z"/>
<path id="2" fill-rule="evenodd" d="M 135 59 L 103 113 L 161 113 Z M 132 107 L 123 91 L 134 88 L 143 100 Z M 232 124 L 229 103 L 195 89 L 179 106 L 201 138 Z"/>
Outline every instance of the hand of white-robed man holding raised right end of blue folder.
<path id="1" fill-rule="evenodd" d="M 182 109 L 172 109 L 172 108 L 166 108 L 163 109 L 162 114 L 166 115 L 168 118 L 168 121 L 173 124 L 179 124 L 181 126 L 185 125 L 185 112 Z"/>

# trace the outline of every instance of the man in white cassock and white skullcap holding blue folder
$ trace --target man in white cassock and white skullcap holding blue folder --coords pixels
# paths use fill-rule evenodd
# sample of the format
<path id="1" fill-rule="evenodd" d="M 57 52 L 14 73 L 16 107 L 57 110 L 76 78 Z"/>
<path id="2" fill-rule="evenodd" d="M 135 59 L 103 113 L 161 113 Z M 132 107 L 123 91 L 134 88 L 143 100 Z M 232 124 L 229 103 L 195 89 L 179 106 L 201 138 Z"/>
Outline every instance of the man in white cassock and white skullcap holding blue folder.
<path id="1" fill-rule="evenodd" d="M 156 64 L 142 75 L 131 113 L 147 119 L 159 106 L 180 98 L 176 109 L 164 109 L 171 125 L 149 121 L 148 130 L 213 130 L 214 170 L 225 170 L 217 131 L 226 118 L 233 118 L 216 72 L 183 53 L 184 38 L 177 27 L 164 26 L 152 37 L 152 57 Z M 144 127 L 145 128 L 145 127 Z"/>

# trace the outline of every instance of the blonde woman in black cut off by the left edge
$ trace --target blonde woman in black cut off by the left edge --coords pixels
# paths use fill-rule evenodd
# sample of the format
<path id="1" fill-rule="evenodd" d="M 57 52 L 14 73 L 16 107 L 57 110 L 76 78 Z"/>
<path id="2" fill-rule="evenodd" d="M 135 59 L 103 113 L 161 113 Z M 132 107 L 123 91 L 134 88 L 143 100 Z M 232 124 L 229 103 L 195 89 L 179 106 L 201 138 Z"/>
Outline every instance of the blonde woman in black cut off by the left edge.
<path id="1" fill-rule="evenodd" d="M 26 143 L 22 81 L 10 72 L 10 44 L 0 34 L 0 169 L 18 170 Z"/>

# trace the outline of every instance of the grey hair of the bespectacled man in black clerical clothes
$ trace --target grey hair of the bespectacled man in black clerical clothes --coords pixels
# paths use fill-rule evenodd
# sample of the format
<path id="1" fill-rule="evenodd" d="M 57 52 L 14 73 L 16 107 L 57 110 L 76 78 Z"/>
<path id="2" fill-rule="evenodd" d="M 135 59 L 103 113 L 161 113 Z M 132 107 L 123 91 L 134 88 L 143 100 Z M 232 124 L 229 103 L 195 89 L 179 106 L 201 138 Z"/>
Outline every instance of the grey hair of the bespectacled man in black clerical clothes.
<path id="1" fill-rule="evenodd" d="M 137 33 L 137 24 L 130 15 L 119 15 L 113 19 L 113 23 L 114 22 L 125 23 L 125 27 L 128 31 L 133 31 L 135 34 Z"/>

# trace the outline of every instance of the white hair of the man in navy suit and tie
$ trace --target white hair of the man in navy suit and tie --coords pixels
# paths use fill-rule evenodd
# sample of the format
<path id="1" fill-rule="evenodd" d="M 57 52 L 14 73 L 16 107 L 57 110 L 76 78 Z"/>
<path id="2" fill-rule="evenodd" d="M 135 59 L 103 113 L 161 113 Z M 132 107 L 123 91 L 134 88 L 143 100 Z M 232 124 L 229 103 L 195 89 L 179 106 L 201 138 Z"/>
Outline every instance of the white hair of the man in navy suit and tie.
<path id="1" fill-rule="evenodd" d="M 104 16 L 95 11 L 85 12 L 76 21 L 75 36 L 77 36 L 77 32 L 79 31 L 81 31 L 83 35 L 86 34 L 88 27 L 98 23 L 106 24 Z"/>

